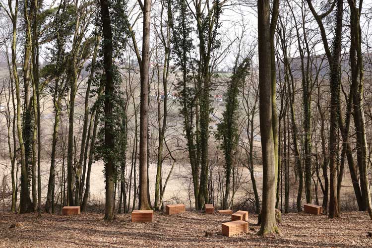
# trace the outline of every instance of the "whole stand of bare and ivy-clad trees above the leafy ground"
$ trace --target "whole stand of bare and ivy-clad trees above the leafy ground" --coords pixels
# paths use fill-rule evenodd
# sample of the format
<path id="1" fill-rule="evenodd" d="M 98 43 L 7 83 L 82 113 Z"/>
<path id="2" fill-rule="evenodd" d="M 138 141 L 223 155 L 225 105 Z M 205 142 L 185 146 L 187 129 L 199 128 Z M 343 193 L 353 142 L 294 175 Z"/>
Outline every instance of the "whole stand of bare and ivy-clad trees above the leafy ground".
<path id="1" fill-rule="evenodd" d="M 85 211 L 99 161 L 106 220 L 160 210 L 175 165 L 186 161 L 190 173 L 179 178 L 189 184 L 190 207 L 253 207 L 261 232 L 272 233 L 275 208 L 301 211 L 303 201 L 319 204 L 318 192 L 324 211 L 338 217 L 348 163 L 358 210 L 372 218 L 363 1 L 0 3 L 12 212 Z M 258 40 L 248 35 L 251 10 Z M 232 12 L 241 15 L 224 18 Z M 223 106 L 211 100 L 218 91 Z M 43 140 L 48 103 L 51 141 Z"/>

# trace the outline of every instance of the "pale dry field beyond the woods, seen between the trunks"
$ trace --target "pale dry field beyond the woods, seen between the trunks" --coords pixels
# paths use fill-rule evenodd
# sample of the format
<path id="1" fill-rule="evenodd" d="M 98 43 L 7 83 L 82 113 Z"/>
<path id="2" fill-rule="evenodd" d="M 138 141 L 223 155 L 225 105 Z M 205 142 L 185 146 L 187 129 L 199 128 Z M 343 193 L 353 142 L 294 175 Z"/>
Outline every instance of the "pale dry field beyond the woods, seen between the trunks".
<path id="1" fill-rule="evenodd" d="M 5 168 L 7 166 L 7 169 Z M 49 161 L 43 161 L 42 162 L 42 196 L 43 196 L 43 203 L 45 202 L 45 197 L 47 193 L 47 186 L 48 186 L 48 179 L 49 179 L 49 167 L 50 162 Z M 60 166 L 58 167 L 58 177 L 57 181 L 60 182 Z M 95 205 L 103 205 L 105 200 L 105 179 L 103 175 L 103 169 L 104 165 L 103 162 L 98 161 L 93 164 L 92 166 L 92 172 L 91 172 L 91 186 L 90 186 L 90 200 L 91 203 L 94 203 Z M 138 176 L 138 164 L 137 164 L 137 176 Z M 170 165 L 164 164 L 163 166 L 163 182 L 165 182 L 166 177 L 168 176 L 170 170 Z M 127 167 L 127 171 L 130 171 L 130 166 Z M 10 162 L 9 161 L 0 161 L 0 176 L 1 179 L 4 175 L 5 181 L 7 182 L 7 185 L 11 187 L 10 184 Z M 215 173 L 216 174 L 216 173 Z M 190 180 L 188 179 L 191 175 L 190 168 L 188 164 L 180 164 L 176 163 L 173 173 L 169 179 L 169 182 L 166 187 L 165 195 L 163 198 L 164 202 L 182 202 L 186 204 L 186 208 L 190 208 L 190 202 L 189 202 L 189 193 L 192 197 L 193 195 L 193 189 L 192 186 L 189 186 Z M 255 167 L 255 179 L 256 184 L 258 188 L 258 193 L 261 195 L 262 193 L 262 167 L 256 166 Z M 216 176 L 216 175 L 215 175 Z M 156 165 L 150 164 L 149 167 L 149 180 L 150 180 L 150 196 L 151 199 L 154 200 L 154 194 L 155 194 L 155 178 L 156 177 Z M 247 191 L 252 192 L 252 186 L 250 182 L 249 177 L 249 171 L 248 169 L 243 169 L 243 176 L 242 178 L 246 179 L 245 183 L 241 185 L 241 187 L 238 189 L 236 195 L 235 195 L 235 203 L 238 203 L 239 200 L 242 197 L 247 196 Z M 1 180 L 0 180 L 1 182 Z M 215 190 L 217 190 L 218 182 L 216 179 L 214 179 L 214 187 Z M 138 185 L 138 180 L 137 180 Z M 298 183 L 295 182 L 294 179 L 291 179 L 291 190 L 290 190 L 290 207 L 295 211 L 295 202 L 297 199 L 297 185 Z M 133 185 L 132 185 L 133 187 Z M 57 190 L 57 188 L 56 188 Z M 189 192 L 190 190 L 190 192 Z M 283 185 L 284 190 L 284 185 Z M 305 190 L 303 190 L 305 191 Z M 217 192 L 215 192 L 215 195 Z M 133 195 L 133 193 L 131 193 Z M 323 194 L 321 192 L 320 186 L 318 186 L 318 197 L 319 202 L 321 204 Z M 305 192 L 303 195 L 303 199 L 305 199 Z M 1 199 L 0 199 L 1 200 Z M 10 200 L 10 198 L 8 198 Z M 284 191 L 283 191 L 283 200 L 284 200 Z M 6 204 L 8 204 L 9 201 L 6 201 Z M 191 198 L 192 208 L 194 207 L 194 200 L 193 197 Z M 0 209 L 3 208 L 3 204 L 0 201 Z M 279 205 L 280 206 L 280 205 Z M 354 196 L 353 187 L 351 184 L 349 173 L 346 171 L 344 180 L 342 183 L 342 200 L 341 200 L 341 206 L 343 208 L 347 209 L 356 209 L 356 201 Z"/>

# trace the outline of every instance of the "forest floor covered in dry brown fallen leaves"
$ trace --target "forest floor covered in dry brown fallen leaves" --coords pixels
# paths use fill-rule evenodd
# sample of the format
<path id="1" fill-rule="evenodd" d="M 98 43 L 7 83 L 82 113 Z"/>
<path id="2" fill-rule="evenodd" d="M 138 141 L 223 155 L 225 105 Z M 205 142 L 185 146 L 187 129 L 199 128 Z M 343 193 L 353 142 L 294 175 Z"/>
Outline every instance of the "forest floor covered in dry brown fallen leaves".
<path id="1" fill-rule="evenodd" d="M 221 223 L 230 215 L 186 212 L 167 216 L 156 213 L 152 223 L 132 223 L 129 214 L 119 214 L 112 222 L 102 214 L 77 216 L 43 214 L 0 214 L 0 247 L 43 248 L 127 248 L 127 247 L 264 247 L 264 248 L 359 248 L 372 247 L 372 222 L 367 213 L 343 212 L 341 218 L 290 213 L 282 215 L 280 234 L 261 237 L 249 216 L 249 233 L 231 238 L 222 236 Z M 20 227 L 10 228 L 21 223 Z M 206 237 L 205 232 L 211 233 Z"/>

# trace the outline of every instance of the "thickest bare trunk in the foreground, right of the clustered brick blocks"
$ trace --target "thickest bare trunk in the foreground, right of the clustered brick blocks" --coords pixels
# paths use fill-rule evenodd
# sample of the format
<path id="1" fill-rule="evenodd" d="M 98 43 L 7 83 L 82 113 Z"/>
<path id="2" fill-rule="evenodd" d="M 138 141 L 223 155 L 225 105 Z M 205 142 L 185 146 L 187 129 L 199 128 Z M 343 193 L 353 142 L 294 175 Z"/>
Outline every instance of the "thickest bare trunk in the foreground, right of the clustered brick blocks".
<path id="1" fill-rule="evenodd" d="M 272 78 L 270 45 L 270 1 L 258 4 L 259 119 L 262 146 L 261 234 L 277 233 L 275 219 L 276 159 L 272 123 Z"/>

